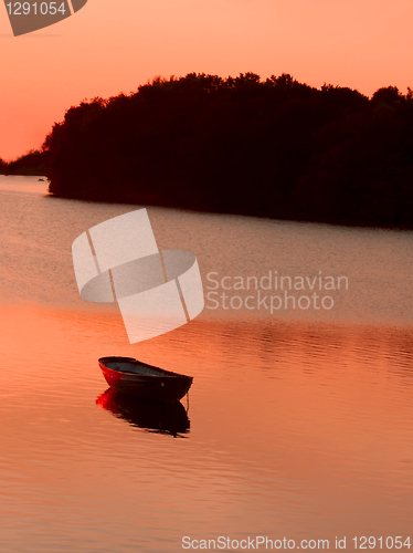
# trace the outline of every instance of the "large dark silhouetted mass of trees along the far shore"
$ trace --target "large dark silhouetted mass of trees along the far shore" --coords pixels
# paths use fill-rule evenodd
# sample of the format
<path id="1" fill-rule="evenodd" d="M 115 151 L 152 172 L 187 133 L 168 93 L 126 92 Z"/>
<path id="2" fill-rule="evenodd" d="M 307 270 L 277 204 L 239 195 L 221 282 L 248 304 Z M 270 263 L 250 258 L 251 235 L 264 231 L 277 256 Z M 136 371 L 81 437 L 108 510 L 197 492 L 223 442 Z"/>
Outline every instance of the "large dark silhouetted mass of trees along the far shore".
<path id="1" fill-rule="evenodd" d="M 288 74 L 155 79 L 71 107 L 42 153 L 51 194 L 350 225 L 412 226 L 413 94 Z"/>

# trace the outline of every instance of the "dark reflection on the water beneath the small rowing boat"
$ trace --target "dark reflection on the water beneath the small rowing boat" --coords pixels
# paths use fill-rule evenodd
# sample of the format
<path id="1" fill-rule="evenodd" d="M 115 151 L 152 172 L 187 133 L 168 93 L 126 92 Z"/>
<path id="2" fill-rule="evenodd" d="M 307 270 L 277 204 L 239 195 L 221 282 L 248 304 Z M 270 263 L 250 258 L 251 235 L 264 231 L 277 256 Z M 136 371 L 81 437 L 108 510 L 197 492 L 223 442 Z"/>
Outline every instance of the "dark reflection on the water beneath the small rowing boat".
<path id="1" fill-rule="evenodd" d="M 147 401 L 108 388 L 96 399 L 96 404 L 117 418 L 127 420 L 130 426 L 149 432 L 169 434 L 174 437 L 189 432 L 189 418 L 180 401 L 173 405 Z"/>

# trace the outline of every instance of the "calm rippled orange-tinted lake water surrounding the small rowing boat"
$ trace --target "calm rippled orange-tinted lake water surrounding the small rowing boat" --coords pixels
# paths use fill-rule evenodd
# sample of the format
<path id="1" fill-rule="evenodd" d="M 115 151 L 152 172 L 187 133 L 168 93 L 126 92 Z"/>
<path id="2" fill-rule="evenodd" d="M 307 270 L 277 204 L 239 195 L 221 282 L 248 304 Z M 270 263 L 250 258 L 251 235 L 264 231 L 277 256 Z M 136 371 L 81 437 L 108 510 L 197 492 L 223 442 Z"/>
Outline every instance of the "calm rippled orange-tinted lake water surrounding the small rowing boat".
<path id="1" fill-rule="evenodd" d="M 78 296 L 71 246 L 135 207 L 44 187 L 0 177 L 1 552 L 256 535 L 330 551 L 346 535 L 353 551 L 354 536 L 413 534 L 412 232 L 148 208 L 158 246 L 193 251 L 213 295 L 190 324 L 129 345 L 116 306 Z M 288 288 L 276 275 L 296 284 L 295 309 L 271 313 Z M 316 292 L 330 309 L 298 306 Z M 114 398 L 103 355 L 193 376 L 188 416 L 187 399 Z"/>

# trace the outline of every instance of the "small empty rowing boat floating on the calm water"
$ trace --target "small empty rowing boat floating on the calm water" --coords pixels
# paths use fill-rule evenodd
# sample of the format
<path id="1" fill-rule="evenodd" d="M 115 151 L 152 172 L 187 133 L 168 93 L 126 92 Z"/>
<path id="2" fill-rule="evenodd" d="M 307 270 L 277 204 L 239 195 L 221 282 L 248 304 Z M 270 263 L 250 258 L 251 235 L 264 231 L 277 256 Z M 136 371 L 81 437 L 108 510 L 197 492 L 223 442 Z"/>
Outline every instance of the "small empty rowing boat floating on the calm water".
<path id="1" fill-rule="evenodd" d="M 100 357 L 107 384 L 118 394 L 174 404 L 192 385 L 192 377 L 153 367 L 133 357 Z"/>

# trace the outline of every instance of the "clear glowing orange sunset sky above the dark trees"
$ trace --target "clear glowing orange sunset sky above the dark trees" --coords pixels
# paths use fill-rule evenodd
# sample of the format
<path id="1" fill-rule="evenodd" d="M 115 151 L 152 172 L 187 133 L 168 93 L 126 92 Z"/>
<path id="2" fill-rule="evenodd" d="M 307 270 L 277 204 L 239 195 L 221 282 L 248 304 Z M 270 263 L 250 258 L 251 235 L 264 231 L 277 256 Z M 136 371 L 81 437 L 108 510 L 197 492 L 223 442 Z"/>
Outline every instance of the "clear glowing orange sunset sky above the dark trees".
<path id="1" fill-rule="evenodd" d="M 156 75 L 283 72 L 308 84 L 413 87 L 411 0 L 88 0 L 13 38 L 0 6 L 0 157 L 39 147 L 83 98 Z"/>

